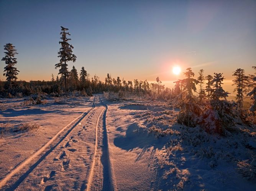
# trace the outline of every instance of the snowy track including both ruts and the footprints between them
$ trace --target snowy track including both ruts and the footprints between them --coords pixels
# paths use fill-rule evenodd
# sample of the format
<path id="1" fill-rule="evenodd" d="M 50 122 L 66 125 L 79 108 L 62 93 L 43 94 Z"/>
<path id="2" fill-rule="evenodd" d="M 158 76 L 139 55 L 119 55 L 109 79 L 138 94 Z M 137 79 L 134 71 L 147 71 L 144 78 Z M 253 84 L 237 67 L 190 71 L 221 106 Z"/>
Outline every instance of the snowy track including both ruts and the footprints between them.
<path id="1" fill-rule="evenodd" d="M 108 106 L 102 102 L 100 95 L 97 97 L 98 104 L 95 105 L 95 96 L 91 108 L 62 128 L 49 142 L 5 176 L 0 182 L 0 188 L 51 190 L 57 186 L 61 189 L 88 191 L 115 190 L 108 150 Z M 81 124 L 85 125 L 80 129 Z M 71 128 L 59 138 L 70 125 Z M 55 139 L 58 141 L 54 142 Z"/>

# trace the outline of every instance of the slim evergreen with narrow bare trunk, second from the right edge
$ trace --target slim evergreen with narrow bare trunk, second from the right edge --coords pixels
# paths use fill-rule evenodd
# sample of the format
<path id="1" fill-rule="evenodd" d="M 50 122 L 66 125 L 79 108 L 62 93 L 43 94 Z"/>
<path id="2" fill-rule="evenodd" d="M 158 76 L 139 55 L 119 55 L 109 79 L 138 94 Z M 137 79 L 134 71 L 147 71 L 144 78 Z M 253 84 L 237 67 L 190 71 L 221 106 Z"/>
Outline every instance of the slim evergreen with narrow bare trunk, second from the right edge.
<path id="1" fill-rule="evenodd" d="M 248 84 L 249 76 L 245 75 L 245 70 L 238 68 L 233 72 L 235 79 L 233 80 L 232 86 L 236 86 L 234 92 L 236 91 L 236 100 L 238 103 L 238 108 L 243 108 L 243 93 L 246 93 L 246 86 Z"/>

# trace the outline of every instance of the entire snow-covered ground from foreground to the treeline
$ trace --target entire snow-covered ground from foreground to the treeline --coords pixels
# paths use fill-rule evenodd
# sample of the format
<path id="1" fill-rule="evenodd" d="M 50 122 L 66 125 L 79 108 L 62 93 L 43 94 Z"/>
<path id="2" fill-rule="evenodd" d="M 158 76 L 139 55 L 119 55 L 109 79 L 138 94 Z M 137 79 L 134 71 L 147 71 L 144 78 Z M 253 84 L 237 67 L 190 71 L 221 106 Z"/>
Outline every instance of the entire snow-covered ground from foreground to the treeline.
<path id="1" fill-rule="evenodd" d="M 0 101 L 1 130 L 39 125 L 3 131 L 0 189 L 256 189 L 255 169 L 237 166 L 245 161 L 254 167 L 253 128 L 209 135 L 176 124 L 177 109 L 149 100 L 110 102 L 95 95 L 32 106 L 23 99 Z"/>

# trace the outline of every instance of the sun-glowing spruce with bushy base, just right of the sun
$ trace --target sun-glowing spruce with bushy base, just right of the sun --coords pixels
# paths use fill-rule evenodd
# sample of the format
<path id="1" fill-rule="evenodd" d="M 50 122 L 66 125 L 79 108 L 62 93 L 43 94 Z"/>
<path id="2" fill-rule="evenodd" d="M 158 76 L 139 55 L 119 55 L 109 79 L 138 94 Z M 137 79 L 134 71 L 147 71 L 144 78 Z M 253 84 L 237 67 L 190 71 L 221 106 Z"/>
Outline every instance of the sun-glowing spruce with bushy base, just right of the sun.
<path id="1" fill-rule="evenodd" d="M 202 113 L 200 106 L 197 104 L 192 94 L 192 91 L 196 92 L 196 85 L 199 81 L 192 78 L 195 74 L 192 72 L 191 68 L 187 68 L 187 71 L 184 74 L 187 77 L 184 79 L 184 92 L 187 92 L 187 95 L 179 100 L 178 105 L 181 110 L 177 116 L 177 122 L 194 127 L 197 125 L 199 116 Z"/>

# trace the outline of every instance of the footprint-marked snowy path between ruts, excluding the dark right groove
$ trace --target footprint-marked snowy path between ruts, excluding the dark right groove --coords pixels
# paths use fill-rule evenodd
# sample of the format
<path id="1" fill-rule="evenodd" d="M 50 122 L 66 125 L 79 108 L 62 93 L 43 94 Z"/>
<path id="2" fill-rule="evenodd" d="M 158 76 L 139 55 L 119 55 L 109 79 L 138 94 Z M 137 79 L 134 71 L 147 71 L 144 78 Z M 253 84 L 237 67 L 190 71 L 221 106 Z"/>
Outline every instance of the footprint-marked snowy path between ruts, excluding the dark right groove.
<path id="1" fill-rule="evenodd" d="M 1 181 L 2 185 L 5 185 L 7 181 L 3 188 L 24 190 L 35 186 L 39 189 L 51 189 L 53 186 L 58 186 L 65 189 L 85 189 L 87 185 L 90 188 L 90 180 L 94 180 L 97 175 L 94 173 L 96 169 L 94 165 L 98 161 L 98 155 L 100 155 L 100 152 L 97 152 L 97 147 L 99 147 L 98 139 L 101 140 L 102 136 L 101 132 L 98 131 L 98 124 L 101 124 L 100 119 L 103 111 L 107 110 L 99 102 L 99 97 L 96 97 L 95 102 L 97 104 L 93 103 L 92 108 L 75 119 L 75 124 L 69 128 L 67 133 L 57 139 L 57 142 L 51 145 L 48 151 L 34 161 L 33 159 L 40 152 L 43 152 L 41 148 L 36 154 L 11 171 Z M 57 135 L 44 146 L 44 149 L 56 137 Z M 21 170 L 20 173 L 17 173 L 19 170 Z M 11 178 L 12 175 L 14 176 Z M 74 175 L 77 177 L 71 183 Z M 11 180 L 8 182 L 10 178 Z M 88 179 L 89 184 L 87 183 Z M 49 184 L 51 182 L 56 184 Z"/>

